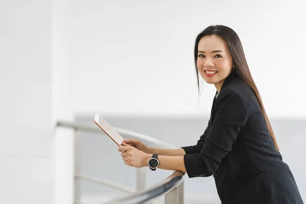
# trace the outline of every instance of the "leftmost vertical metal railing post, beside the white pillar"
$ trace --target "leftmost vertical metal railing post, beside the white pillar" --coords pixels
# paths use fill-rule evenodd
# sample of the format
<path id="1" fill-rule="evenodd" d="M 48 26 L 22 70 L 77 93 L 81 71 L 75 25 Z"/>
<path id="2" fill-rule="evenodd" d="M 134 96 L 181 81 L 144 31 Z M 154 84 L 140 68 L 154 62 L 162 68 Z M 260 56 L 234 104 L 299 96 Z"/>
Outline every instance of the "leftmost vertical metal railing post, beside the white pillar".
<path id="1" fill-rule="evenodd" d="M 75 129 L 74 131 L 74 203 L 81 202 L 81 181 L 76 176 L 81 172 L 81 131 Z"/>

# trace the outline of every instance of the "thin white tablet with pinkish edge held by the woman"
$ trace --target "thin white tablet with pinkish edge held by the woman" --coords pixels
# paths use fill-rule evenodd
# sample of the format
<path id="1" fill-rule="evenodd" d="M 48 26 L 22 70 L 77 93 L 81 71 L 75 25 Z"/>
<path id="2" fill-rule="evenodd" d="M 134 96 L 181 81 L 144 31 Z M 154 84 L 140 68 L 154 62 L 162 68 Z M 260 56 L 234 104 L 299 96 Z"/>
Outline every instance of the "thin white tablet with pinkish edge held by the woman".
<path id="1" fill-rule="evenodd" d="M 97 113 L 94 114 L 94 123 L 96 123 L 118 146 L 122 146 L 123 138 Z"/>

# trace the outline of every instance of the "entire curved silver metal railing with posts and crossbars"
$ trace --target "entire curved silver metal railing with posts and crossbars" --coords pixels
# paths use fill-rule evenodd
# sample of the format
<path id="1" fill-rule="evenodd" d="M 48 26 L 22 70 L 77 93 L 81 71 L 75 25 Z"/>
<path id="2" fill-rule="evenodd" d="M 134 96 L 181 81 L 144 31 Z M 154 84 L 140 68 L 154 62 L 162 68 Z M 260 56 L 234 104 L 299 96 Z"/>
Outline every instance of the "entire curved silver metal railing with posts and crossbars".
<path id="1" fill-rule="evenodd" d="M 92 183 L 109 186 L 123 192 L 130 193 L 129 195 L 115 198 L 111 201 L 106 202 L 107 204 L 136 204 L 136 203 L 147 203 L 158 199 L 161 196 L 165 196 L 165 204 L 184 203 L 184 173 L 181 171 L 174 171 L 169 177 L 164 179 L 158 184 L 145 189 L 145 169 L 136 168 L 136 190 L 131 190 L 129 187 L 122 186 L 120 184 L 113 183 L 107 180 L 101 180 L 87 175 L 80 175 L 80 152 L 78 151 L 80 147 L 80 132 L 90 132 L 97 134 L 104 134 L 98 127 L 89 124 L 73 123 L 66 121 L 58 121 L 57 126 L 67 127 L 74 129 L 75 131 L 75 185 L 74 185 L 74 202 L 80 203 L 80 186 L 78 185 L 78 180 L 86 180 Z M 175 148 L 174 146 L 167 144 L 165 142 L 156 140 L 154 138 L 135 133 L 132 131 L 120 129 L 114 127 L 114 129 L 123 137 L 141 140 L 144 144 L 148 146 L 155 146 L 159 148 Z M 104 134 L 106 137 L 107 135 Z M 143 190 L 145 189 L 145 190 Z"/>

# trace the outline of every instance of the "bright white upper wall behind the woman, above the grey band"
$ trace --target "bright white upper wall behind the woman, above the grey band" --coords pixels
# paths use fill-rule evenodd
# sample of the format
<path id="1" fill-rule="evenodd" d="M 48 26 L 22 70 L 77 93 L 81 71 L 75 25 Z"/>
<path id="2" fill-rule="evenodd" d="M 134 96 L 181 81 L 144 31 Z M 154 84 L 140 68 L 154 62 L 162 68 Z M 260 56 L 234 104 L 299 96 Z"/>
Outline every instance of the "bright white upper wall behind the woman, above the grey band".
<path id="1" fill-rule="evenodd" d="M 268 115 L 305 118 L 306 2 L 85 1 L 74 3 L 73 111 L 207 115 L 215 88 L 197 101 L 196 35 L 233 28 Z"/>

